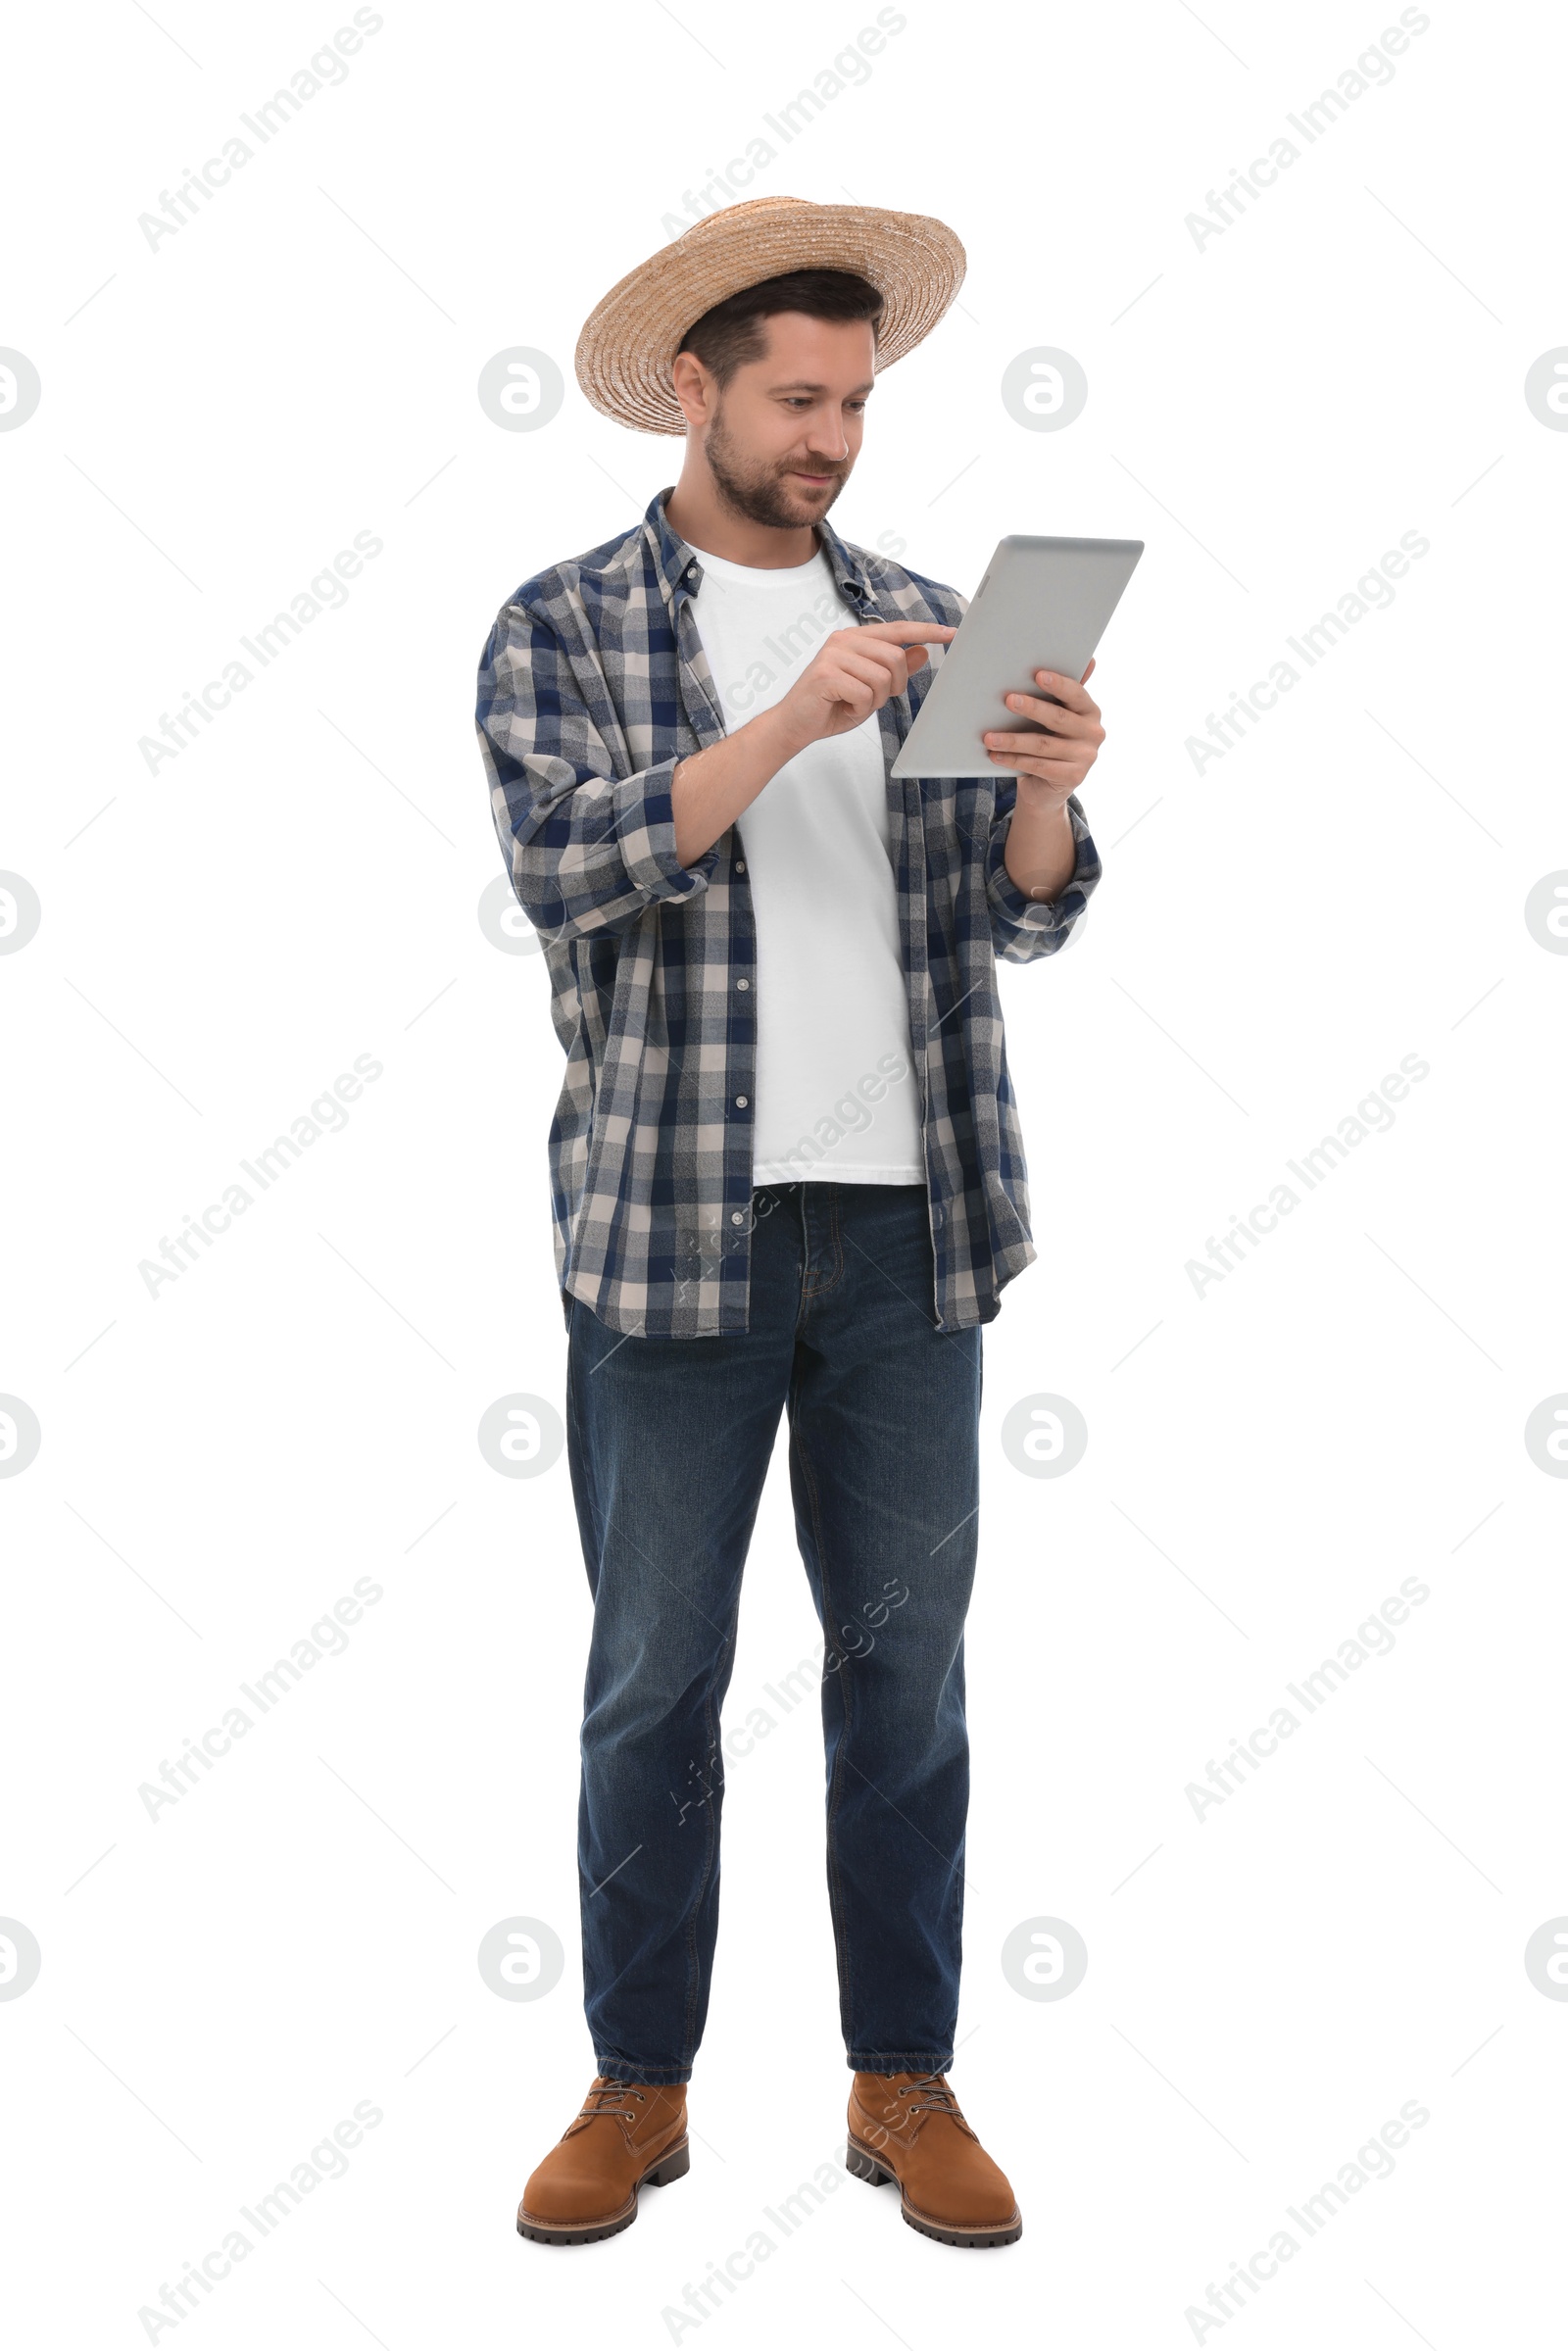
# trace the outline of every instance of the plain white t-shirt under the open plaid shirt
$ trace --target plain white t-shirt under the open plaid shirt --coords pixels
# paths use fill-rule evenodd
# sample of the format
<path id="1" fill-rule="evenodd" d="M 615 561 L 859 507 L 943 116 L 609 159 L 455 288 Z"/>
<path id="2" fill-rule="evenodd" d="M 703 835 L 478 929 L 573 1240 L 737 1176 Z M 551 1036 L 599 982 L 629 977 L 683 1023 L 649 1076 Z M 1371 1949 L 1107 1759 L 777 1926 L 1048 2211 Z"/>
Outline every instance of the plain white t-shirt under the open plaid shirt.
<path id="1" fill-rule="evenodd" d="M 698 635 L 736 729 L 858 614 L 823 552 L 790 571 L 696 552 Z M 752 1183 L 924 1183 L 877 712 L 785 762 L 738 835 L 757 917 Z"/>

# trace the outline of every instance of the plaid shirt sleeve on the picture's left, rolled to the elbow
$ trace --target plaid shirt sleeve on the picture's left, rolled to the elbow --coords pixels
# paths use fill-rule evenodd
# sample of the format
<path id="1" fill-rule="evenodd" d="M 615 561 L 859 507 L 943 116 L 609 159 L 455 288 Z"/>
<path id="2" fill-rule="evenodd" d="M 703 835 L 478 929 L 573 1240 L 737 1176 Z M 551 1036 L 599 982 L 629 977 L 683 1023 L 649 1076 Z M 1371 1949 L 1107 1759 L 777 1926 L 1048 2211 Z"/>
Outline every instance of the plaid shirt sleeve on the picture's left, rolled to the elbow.
<path id="1" fill-rule="evenodd" d="M 719 844 L 696 865 L 675 853 L 682 755 L 616 776 L 559 637 L 520 604 L 484 644 L 477 729 L 517 903 L 548 938 L 623 931 L 708 889 Z"/>

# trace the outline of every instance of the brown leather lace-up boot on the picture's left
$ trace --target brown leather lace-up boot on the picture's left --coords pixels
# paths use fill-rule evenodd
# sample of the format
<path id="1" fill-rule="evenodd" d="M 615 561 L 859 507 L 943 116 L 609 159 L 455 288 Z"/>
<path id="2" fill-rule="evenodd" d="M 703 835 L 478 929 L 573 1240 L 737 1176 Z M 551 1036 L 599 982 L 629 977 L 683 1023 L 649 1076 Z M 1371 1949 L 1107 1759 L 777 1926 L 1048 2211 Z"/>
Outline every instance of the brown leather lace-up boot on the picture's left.
<path id="1" fill-rule="evenodd" d="M 595 2074 L 576 2123 L 522 2191 L 517 2233 L 538 2245 L 618 2236 L 637 2219 L 637 2189 L 665 2189 L 689 2170 L 686 2085 Z"/>

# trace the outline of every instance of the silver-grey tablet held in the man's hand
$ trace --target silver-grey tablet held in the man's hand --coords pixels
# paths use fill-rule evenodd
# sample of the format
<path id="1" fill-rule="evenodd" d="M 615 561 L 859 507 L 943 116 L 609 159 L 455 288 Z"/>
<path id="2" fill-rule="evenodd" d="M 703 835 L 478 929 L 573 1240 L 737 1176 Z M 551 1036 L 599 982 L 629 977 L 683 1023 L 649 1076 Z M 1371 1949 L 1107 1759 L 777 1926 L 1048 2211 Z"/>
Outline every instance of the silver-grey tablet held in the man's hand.
<path id="1" fill-rule="evenodd" d="M 1143 555 L 1143 538 L 1001 538 L 943 651 L 893 776 L 1006 776 L 980 736 L 1046 734 L 1004 694 L 1034 670 L 1081 677 Z"/>

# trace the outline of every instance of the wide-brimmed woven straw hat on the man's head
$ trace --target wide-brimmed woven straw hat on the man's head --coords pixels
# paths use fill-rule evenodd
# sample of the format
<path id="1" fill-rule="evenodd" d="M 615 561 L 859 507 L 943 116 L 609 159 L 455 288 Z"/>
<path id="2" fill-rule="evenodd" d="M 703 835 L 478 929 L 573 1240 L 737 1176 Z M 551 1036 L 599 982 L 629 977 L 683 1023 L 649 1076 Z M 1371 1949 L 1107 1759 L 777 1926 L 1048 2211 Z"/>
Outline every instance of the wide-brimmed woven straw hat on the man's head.
<path id="1" fill-rule="evenodd" d="M 964 247 L 924 212 L 757 195 L 696 221 L 611 287 L 576 346 L 576 379 L 602 416 L 635 433 L 684 433 L 670 369 L 689 327 L 785 270 L 853 270 L 884 301 L 877 371 L 931 334 L 964 284 Z"/>

